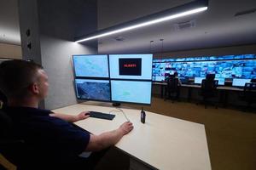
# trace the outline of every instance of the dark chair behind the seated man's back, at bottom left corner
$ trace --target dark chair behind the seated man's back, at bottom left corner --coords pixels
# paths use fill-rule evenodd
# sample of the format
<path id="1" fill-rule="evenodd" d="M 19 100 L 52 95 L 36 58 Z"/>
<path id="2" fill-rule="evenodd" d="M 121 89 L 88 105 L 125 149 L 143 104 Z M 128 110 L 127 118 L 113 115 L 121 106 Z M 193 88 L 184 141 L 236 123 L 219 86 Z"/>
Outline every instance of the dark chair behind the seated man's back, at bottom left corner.
<path id="1" fill-rule="evenodd" d="M 15 137 L 12 123 L 11 117 L 0 110 L 0 153 L 20 170 L 25 163 L 23 158 L 26 150 L 24 141 Z"/>

